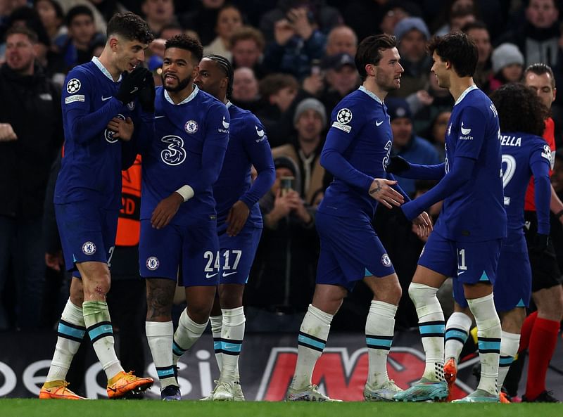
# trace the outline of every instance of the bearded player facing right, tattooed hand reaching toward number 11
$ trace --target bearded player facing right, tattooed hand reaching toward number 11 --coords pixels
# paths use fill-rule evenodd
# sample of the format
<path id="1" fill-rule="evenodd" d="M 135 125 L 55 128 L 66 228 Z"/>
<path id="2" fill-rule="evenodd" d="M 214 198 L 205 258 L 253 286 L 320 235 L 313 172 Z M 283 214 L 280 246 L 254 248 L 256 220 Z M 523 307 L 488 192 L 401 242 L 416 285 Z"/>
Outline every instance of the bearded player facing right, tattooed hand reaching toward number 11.
<path id="1" fill-rule="evenodd" d="M 372 228 L 378 203 L 391 208 L 407 195 L 385 172 L 393 145 L 384 98 L 400 86 L 403 67 L 396 39 L 365 38 L 355 56 L 362 86 L 336 105 L 321 154 L 321 165 L 334 181 L 317 211 L 321 252 L 317 283 L 298 335 L 298 358 L 288 401 L 335 401 L 312 385 L 312 372 L 342 300 L 363 280 L 374 293 L 366 321 L 369 369 L 367 401 L 388 401 L 400 390 L 387 374 L 401 288 L 385 248 Z M 416 217 L 416 216 L 415 216 Z M 422 233 L 431 228 L 428 214 L 417 217 Z"/>

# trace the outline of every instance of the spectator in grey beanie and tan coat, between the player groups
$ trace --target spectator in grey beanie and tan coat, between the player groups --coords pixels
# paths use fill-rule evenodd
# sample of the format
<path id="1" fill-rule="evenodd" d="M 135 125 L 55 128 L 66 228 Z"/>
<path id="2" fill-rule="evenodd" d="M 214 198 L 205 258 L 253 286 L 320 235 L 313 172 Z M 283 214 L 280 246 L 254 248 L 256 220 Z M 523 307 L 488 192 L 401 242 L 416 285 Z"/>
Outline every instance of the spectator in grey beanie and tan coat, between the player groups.
<path id="1" fill-rule="evenodd" d="M 301 186 L 296 191 L 312 203 L 312 196 L 322 187 L 324 168 L 320 165 L 323 143 L 322 132 L 327 127 L 327 113 L 324 105 L 316 98 L 305 98 L 297 105 L 293 115 L 293 126 L 297 137 L 290 143 L 272 149 L 274 158 L 289 156 L 298 163 Z"/>

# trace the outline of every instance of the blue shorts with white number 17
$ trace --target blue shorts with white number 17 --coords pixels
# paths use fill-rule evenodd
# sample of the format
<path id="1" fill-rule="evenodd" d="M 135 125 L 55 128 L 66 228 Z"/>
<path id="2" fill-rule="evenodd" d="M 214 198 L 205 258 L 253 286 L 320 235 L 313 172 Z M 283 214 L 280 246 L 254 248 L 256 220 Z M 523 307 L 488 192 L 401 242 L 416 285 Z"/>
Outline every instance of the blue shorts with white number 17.
<path id="1" fill-rule="evenodd" d="M 222 284 L 246 284 L 262 229 L 244 227 L 236 236 L 219 237 Z"/>

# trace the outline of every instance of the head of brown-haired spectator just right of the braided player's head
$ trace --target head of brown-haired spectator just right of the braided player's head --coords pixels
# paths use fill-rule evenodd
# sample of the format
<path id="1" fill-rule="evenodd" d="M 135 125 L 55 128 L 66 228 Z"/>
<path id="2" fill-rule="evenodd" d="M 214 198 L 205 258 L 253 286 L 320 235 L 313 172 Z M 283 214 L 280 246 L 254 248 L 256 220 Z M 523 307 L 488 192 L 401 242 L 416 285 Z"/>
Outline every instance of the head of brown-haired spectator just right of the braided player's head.
<path id="1" fill-rule="evenodd" d="M 264 59 L 264 37 L 251 26 L 239 27 L 230 39 L 233 68 L 252 68 L 256 78 L 266 75 Z"/>

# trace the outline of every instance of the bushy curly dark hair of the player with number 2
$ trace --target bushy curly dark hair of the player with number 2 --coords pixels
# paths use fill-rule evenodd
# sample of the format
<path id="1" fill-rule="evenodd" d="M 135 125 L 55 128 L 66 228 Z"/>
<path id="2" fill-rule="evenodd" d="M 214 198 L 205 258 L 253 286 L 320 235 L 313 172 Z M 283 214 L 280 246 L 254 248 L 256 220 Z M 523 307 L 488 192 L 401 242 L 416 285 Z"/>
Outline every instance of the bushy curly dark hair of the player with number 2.
<path id="1" fill-rule="evenodd" d="M 511 82 L 493 91 L 491 100 L 498 112 L 500 131 L 543 135 L 549 110 L 530 87 Z"/>

